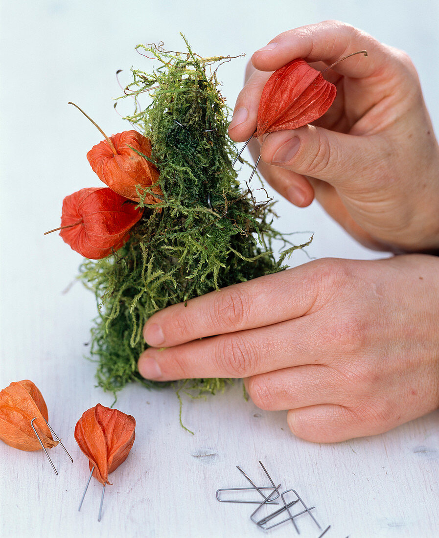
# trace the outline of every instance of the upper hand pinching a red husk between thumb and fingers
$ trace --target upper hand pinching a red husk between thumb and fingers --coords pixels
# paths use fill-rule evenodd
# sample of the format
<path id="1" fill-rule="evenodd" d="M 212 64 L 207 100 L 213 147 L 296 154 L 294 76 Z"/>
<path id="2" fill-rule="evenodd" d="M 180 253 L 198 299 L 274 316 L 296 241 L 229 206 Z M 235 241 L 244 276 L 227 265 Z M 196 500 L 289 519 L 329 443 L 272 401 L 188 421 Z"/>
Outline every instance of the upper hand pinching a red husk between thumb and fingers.
<path id="1" fill-rule="evenodd" d="M 277 44 L 274 48 L 270 48 Z M 265 48 L 265 50 L 264 50 Z M 314 197 L 364 245 L 393 252 L 439 249 L 439 147 L 416 70 L 406 53 L 354 27 L 327 21 L 284 32 L 256 51 L 229 134 L 247 140 L 271 72 L 301 57 L 337 87 L 312 125 L 253 139 L 259 170 L 300 207 Z"/>

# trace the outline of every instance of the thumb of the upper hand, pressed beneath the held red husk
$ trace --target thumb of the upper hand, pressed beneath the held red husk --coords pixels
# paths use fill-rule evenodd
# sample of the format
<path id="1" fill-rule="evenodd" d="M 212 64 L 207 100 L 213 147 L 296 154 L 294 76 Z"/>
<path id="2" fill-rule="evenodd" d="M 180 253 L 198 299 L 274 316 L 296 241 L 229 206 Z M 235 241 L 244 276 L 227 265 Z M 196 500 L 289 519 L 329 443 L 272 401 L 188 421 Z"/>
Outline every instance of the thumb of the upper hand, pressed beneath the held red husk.
<path id="1" fill-rule="evenodd" d="M 268 134 L 261 146 L 261 159 L 349 190 L 360 183 L 364 187 L 365 179 L 373 180 L 385 152 L 380 137 L 354 136 L 305 125 Z"/>

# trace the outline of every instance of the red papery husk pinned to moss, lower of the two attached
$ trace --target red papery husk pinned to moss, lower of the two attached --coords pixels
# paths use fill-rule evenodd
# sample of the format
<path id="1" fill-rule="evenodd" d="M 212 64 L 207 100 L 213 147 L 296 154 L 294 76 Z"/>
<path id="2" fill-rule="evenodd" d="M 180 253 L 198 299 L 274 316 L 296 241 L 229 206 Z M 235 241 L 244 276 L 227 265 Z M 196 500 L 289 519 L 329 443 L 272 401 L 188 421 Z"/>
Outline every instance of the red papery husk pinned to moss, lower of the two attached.
<path id="1" fill-rule="evenodd" d="M 127 242 L 143 209 L 108 187 L 91 187 L 62 202 L 60 236 L 86 258 L 101 259 Z M 64 228 L 64 229 L 62 229 Z"/>

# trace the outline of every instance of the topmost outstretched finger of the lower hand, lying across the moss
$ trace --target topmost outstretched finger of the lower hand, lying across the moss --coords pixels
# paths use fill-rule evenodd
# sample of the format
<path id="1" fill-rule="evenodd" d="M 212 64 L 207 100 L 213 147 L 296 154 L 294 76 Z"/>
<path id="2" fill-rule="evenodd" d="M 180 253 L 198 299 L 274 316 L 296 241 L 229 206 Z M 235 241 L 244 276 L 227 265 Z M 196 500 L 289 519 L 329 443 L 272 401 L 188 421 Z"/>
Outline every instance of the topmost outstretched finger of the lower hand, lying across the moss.
<path id="1" fill-rule="evenodd" d="M 310 262 L 281 273 L 234 284 L 172 305 L 152 315 L 143 328 L 153 347 L 264 327 L 310 313 L 316 301 Z M 311 266 L 311 267 L 310 267 Z"/>

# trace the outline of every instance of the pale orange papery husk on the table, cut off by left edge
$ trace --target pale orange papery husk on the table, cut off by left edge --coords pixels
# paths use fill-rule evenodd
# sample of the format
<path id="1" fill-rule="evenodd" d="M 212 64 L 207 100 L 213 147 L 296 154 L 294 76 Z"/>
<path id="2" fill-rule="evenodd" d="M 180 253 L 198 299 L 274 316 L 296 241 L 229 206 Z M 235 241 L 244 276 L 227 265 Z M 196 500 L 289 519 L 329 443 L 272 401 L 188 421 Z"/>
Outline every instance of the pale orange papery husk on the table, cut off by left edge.
<path id="1" fill-rule="evenodd" d="M 56 447 L 45 421 L 47 406 L 37 386 L 29 379 L 16 381 L 0 391 L 0 439 L 19 450 L 41 450 L 31 421 L 45 448 Z"/>

